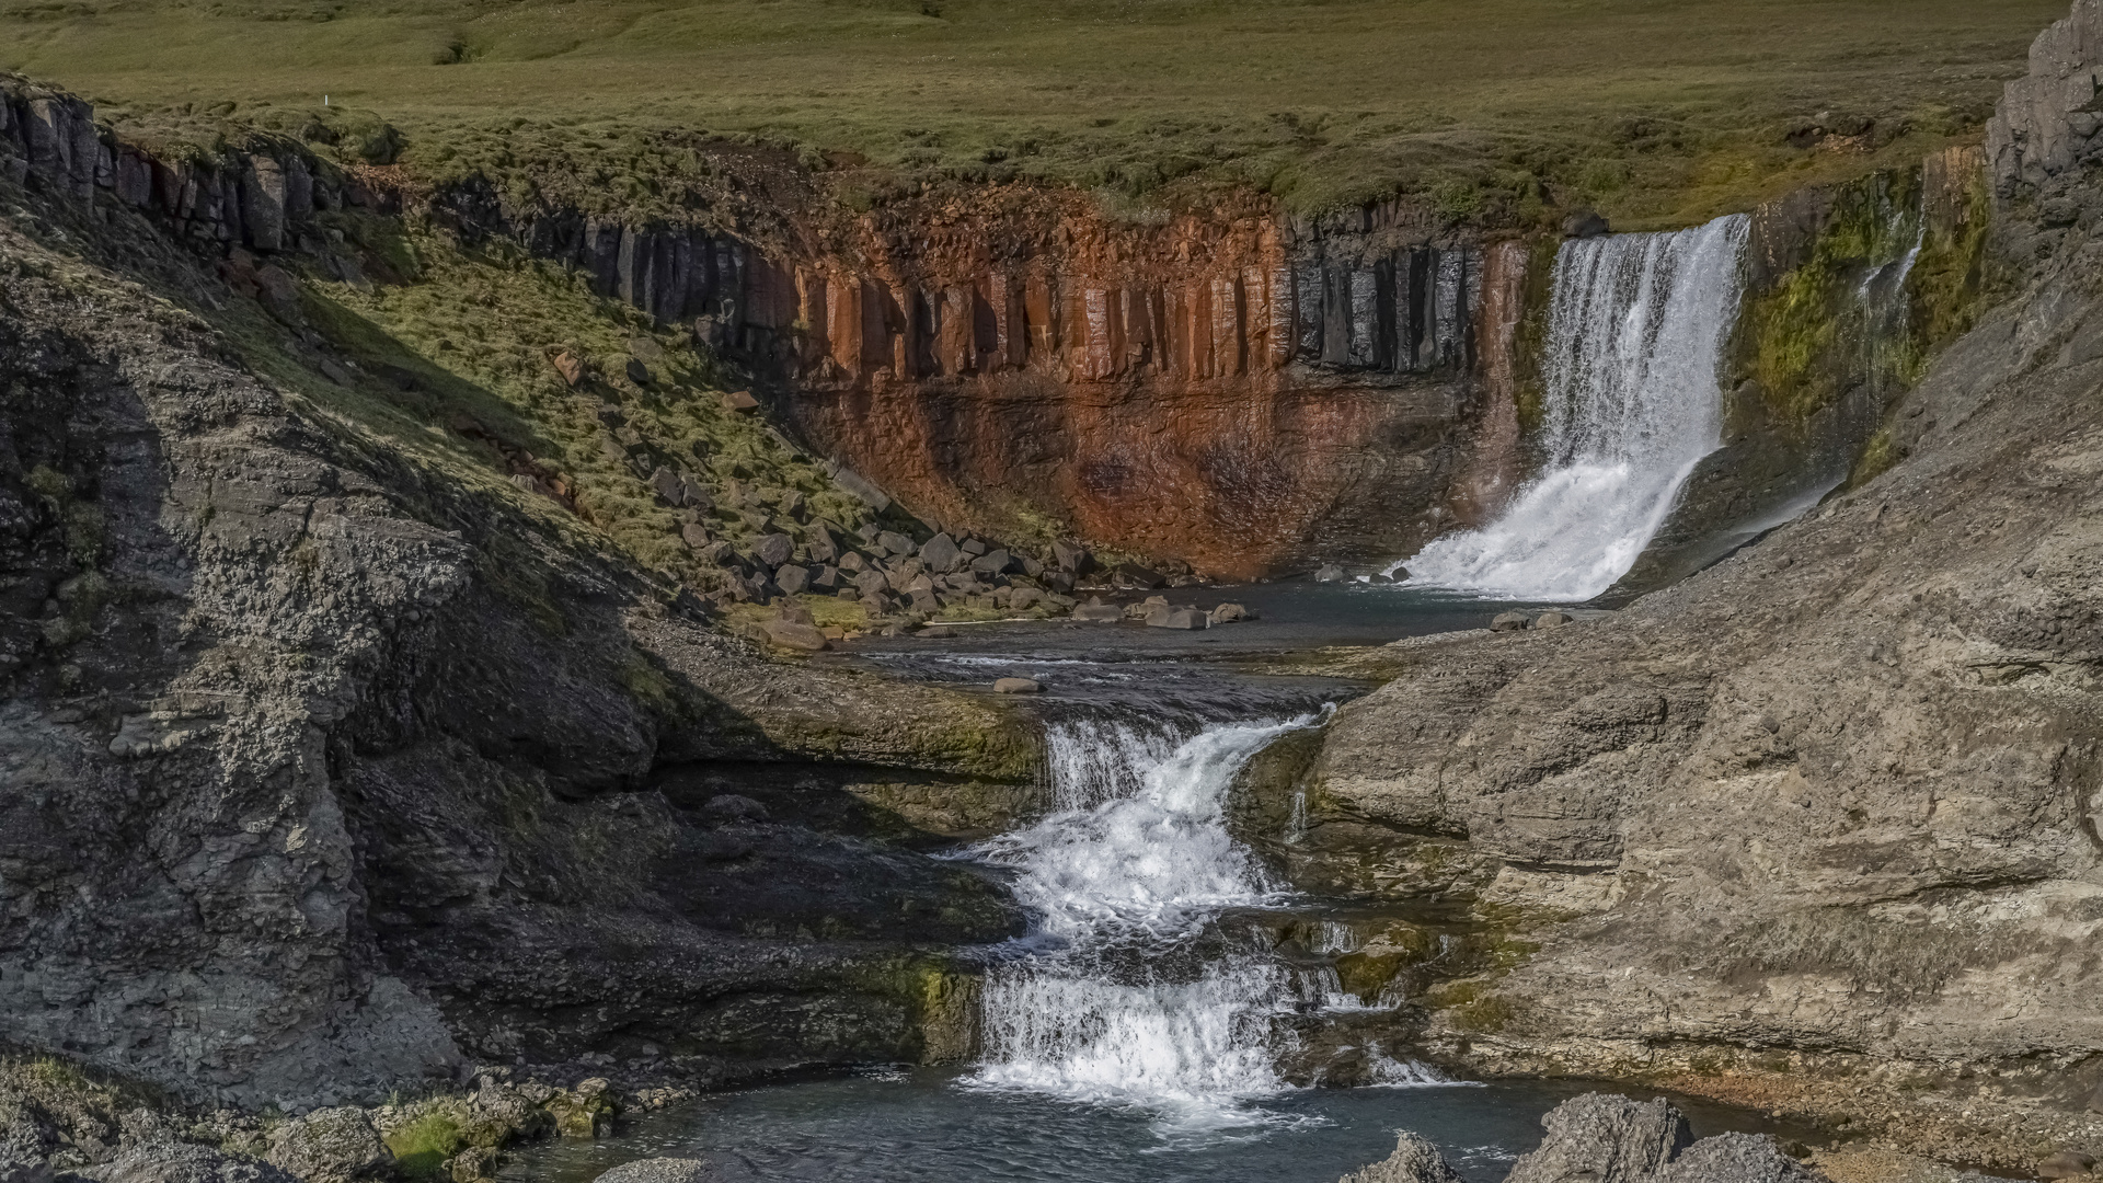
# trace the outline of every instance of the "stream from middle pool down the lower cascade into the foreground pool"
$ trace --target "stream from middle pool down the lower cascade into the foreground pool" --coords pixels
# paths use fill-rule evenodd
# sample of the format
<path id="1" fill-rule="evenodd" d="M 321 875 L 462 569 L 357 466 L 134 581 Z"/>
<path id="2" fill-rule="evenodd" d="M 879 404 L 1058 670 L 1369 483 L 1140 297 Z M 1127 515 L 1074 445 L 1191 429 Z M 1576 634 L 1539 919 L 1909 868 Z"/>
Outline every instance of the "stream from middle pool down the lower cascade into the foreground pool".
<path id="1" fill-rule="evenodd" d="M 986 966 L 978 1063 L 709 1095 L 604 1143 L 532 1149 L 503 1179 L 585 1183 L 692 1156 L 732 1181 L 1331 1183 L 1384 1158 L 1398 1128 L 1445 1147 L 1470 1183 L 1502 1179 L 1539 1116 L 1588 1086 L 1459 1082 L 1413 1061 L 1407 998 L 1348 994 L 1327 962 L 1388 918 L 1295 893 L 1232 836 L 1226 804 L 1264 745 L 1369 690 L 1258 671 L 1266 661 L 1483 627 L 1512 604 L 1314 583 L 1171 596 L 1253 602 L 1262 621 L 991 625 L 845 657 L 908 680 L 1026 674 L 1047 688 L 1028 701 L 1045 813 L 946 855 L 1003 874 L 1035 918 L 1028 937 L 967 951 Z M 1773 1128 L 1685 1107 L 1703 1132 Z"/>

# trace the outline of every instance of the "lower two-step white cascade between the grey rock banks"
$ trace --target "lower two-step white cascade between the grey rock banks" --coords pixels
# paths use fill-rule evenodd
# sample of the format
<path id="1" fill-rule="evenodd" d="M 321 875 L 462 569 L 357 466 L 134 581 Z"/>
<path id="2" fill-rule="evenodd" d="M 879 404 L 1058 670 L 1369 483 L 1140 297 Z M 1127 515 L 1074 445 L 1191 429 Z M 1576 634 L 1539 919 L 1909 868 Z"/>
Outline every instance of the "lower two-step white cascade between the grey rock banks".
<path id="1" fill-rule="evenodd" d="M 1251 756 L 1321 718 L 1049 730 L 1058 813 L 976 850 L 1018 871 L 1039 951 L 988 970 L 972 1084 L 1146 1105 L 1176 1126 L 1262 1120 L 1239 1103 L 1283 1088 L 1274 1017 L 1329 991 L 1218 924 L 1285 899 L 1228 834 L 1224 802 Z M 1392 1063 L 1384 1080 L 1436 1078 Z"/>

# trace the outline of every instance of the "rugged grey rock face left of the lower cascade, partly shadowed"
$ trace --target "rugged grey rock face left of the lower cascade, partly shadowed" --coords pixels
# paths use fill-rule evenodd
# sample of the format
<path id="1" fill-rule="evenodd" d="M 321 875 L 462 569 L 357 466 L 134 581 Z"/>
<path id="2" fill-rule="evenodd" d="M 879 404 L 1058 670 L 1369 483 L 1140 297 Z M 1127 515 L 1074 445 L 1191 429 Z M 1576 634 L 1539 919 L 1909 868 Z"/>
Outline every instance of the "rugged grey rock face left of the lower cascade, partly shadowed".
<path id="1" fill-rule="evenodd" d="M 227 305 L 191 223 L 67 187 L 84 141 L 53 128 L 78 124 L 40 118 L 29 189 L 0 179 L 40 219 L 0 219 L 8 1042 L 288 1111 L 469 1057 L 919 1057 L 946 947 L 1022 918 L 900 817 L 1012 817 L 1033 733 L 770 663 L 461 474 L 303 417 L 145 295 Z M 265 173 L 294 208 L 297 171 Z M 229 200 L 196 225 L 265 225 Z M 787 821 L 690 813 L 723 779 Z"/>

